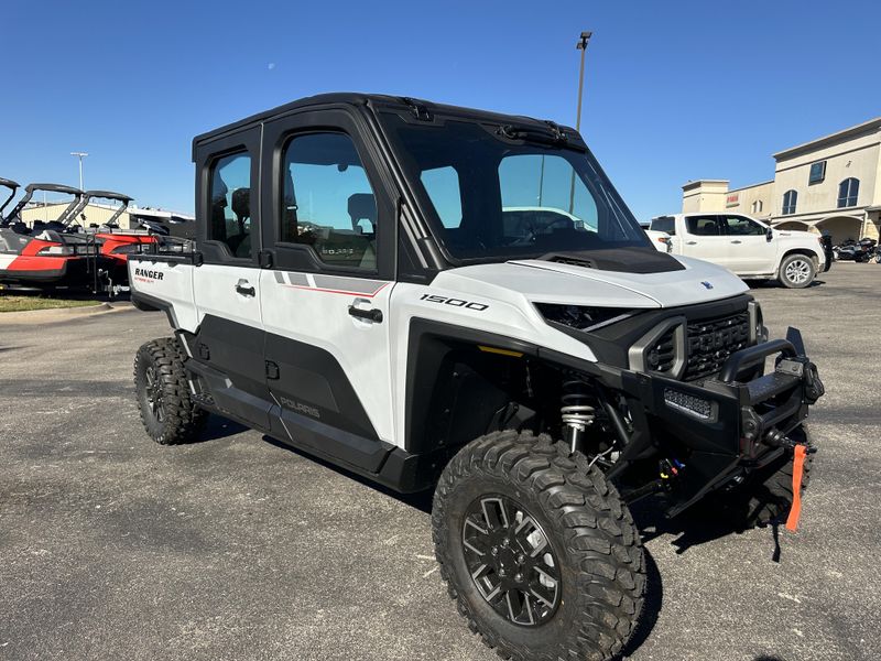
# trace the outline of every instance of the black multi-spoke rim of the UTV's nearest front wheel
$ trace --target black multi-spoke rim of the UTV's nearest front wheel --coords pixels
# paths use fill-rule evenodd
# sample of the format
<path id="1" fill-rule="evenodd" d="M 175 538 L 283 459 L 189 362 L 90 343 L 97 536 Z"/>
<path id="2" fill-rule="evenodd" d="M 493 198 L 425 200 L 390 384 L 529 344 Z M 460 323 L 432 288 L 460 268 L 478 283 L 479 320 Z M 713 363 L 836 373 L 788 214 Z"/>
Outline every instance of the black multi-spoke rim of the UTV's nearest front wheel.
<path id="1" fill-rule="evenodd" d="M 480 596 L 524 627 L 550 620 L 559 605 L 559 563 L 542 527 L 508 496 L 477 498 L 461 532 L 465 564 Z"/>

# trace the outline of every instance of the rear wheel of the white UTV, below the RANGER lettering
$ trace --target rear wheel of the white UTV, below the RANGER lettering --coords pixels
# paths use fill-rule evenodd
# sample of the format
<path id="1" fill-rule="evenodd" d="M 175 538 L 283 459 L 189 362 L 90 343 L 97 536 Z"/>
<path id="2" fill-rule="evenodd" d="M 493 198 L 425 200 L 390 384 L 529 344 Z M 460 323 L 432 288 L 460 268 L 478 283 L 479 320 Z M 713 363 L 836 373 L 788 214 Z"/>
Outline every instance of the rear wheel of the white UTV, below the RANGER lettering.
<path id="1" fill-rule="evenodd" d="M 161 445 L 195 441 L 206 413 L 189 399 L 186 355 L 176 339 L 164 337 L 141 346 L 134 356 L 134 388 L 146 433 Z"/>

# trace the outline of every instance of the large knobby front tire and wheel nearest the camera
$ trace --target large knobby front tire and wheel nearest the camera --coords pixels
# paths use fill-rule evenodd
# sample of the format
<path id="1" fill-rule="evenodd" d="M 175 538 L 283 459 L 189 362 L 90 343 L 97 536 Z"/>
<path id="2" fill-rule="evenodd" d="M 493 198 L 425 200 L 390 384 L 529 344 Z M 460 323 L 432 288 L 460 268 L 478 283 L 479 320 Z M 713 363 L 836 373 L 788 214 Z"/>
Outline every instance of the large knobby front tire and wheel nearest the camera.
<path id="1" fill-rule="evenodd" d="M 639 618 L 645 559 L 618 491 L 547 435 L 496 432 L 444 469 L 432 511 L 440 576 L 504 659 L 610 659 Z"/>

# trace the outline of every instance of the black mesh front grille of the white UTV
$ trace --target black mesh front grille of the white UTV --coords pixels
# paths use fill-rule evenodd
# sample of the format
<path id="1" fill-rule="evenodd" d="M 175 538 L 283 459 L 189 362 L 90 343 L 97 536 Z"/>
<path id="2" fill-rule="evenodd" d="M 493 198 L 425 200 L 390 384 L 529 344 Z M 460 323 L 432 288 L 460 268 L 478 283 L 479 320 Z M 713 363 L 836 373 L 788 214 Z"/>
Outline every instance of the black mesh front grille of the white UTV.
<path id="1" fill-rule="evenodd" d="M 689 323 L 685 342 L 688 358 L 683 379 L 696 381 L 715 375 L 731 354 L 749 346 L 749 342 L 750 318 L 746 311 Z"/>

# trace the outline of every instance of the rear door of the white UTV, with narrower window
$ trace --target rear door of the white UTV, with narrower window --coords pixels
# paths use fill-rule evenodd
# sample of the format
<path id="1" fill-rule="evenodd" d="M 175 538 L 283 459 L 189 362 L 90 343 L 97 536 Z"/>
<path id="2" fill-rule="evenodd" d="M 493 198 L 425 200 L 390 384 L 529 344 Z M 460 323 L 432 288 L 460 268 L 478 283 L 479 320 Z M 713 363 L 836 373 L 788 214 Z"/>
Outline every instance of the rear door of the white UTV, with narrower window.
<path id="1" fill-rule="evenodd" d="M 195 160 L 204 263 L 193 269 L 199 329 L 191 351 L 216 404 L 268 429 L 258 264 L 260 129 L 199 144 Z"/>

